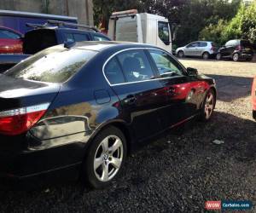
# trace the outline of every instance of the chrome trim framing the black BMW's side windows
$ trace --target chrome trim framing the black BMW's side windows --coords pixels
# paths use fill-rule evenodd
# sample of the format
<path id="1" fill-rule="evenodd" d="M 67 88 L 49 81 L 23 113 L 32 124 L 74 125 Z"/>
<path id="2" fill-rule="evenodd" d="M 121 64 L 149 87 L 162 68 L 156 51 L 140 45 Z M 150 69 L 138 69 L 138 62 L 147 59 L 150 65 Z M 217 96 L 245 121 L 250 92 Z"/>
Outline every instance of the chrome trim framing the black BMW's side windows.
<path id="1" fill-rule="evenodd" d="M 170 55 L 165 49 L 158 49 L 158 48 L 128 48 L 128 49 L 121 49 L 118 52 L 114 53 L 113 55 L 111 55 L 108 60 L 105 61 L 105 63 L 102 66 L 102 73 L 104 78 L 106 79 L 106 81 L 108 82 L 109 86 L 113 87 L 113 86 L 119 86 L 119 85 L 124 85 L 124 84 L 131 84 L 131 83 L 142 83 L 142 82 L 149 82 L 149 81 L 159 81 L 159 80 L 164 80 L 164 79 L 169 79 L 169 78 L 180 78 L 180 76 L 177 77 L 166 77 L 166 78 L 154 78 L 154 79 L 148 79 L 148 80 L 143 80 L 143 81 L 135 81 L 135 82 L 125 82 L 125 83 L 110 83 L 108 81 L 108 78 L 105 75 L 105 66 L 107 66 L 108 61 L 113 59 L 113 57 L 115 55 L 118 55 L 119 53 L 125 52 L 125 51 L 129 51 L 129 50 L 134 50 L 134 49 L 154 49 L 154 50 L 159 50 L 159 51 L 163 51 L 166 52 L 168 55 Z M 176 59 L 174 59 L 176 60 Z"/>

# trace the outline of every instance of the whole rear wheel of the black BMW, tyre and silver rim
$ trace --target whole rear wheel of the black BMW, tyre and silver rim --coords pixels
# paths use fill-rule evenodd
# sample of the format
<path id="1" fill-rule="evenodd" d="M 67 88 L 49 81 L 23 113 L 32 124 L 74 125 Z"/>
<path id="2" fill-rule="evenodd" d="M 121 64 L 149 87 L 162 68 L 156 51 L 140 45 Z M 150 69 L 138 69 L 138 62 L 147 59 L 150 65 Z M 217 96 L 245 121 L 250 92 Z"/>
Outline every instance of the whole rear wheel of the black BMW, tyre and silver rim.
<path id="1" fill-rule="evenodd" d="M 92 141 L 84 159 L 84 179 L 90 187 L 107 187 L 119 175 L 126 157 L 123 133 L 111 126 Z"/>

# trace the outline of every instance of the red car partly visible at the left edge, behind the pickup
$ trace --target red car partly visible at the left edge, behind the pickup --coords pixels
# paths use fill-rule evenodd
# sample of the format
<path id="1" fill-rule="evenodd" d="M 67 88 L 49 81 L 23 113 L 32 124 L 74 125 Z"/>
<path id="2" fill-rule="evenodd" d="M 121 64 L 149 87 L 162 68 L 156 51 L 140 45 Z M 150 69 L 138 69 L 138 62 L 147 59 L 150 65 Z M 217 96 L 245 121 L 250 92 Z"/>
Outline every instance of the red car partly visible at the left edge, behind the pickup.
<path id="1" fill-rule="evenodd" d="M 22 34 L 0 26 L 0 54 L 22 53 Z"/>

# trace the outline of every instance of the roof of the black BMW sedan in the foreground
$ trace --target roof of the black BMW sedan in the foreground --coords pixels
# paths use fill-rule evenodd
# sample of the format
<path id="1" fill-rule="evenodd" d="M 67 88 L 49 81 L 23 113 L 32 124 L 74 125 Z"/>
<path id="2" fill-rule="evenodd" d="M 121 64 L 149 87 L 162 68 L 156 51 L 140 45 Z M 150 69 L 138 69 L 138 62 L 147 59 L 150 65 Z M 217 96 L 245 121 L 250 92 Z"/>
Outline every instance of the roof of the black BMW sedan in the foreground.
<path id="1" fill-rule="evenodd" d="M 88 42 L 78 42 L 73 46 L 73 49 L 87 49 L 97 52 L 101 52 L 103 49 L 110 48 L 154 48 L 159 49 L 156 46 L 152 46 L 146 43 L 131 43 L 131 42 L 116 42 L 116 41 L 88 41 Z"/>

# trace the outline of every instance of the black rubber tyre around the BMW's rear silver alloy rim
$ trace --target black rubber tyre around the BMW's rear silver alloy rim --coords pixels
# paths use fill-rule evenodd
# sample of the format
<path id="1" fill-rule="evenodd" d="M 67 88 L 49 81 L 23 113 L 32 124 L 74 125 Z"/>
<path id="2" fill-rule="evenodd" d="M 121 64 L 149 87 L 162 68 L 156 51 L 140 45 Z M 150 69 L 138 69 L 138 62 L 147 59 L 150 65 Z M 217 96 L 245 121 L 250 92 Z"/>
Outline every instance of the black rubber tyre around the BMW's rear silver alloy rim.
<path id="1" fill-rule="evenodd" d="M 102 144 L 103 139 L 106 139 L 109 136 L 117 136 L 120 139 L 120 141 L 122 143 L 122 147 L 123 147 L 123 155 L 122 155 L 122 160 L 120 161 L 121 164 L 119 166 L 119 170 L 117 170 L 117 172 L 111 178 L 111 180 L 100 181 L 99 177 L 96 176 L 96 171 L 94 169 L 94 163 L 95 163 L 96 154 L 97 154 L 97 152 L 99 152 L 99 148 L 102 148 L 101 144 Z M 108 141 L 108 144 L 110 142 L 111 141 Z M 116 152 L 119 152 L 119 151 L 116 151 Z M 102 153 L 103 153 L 103 149 L 102 149 Z M 89 187 L 92 187 L 92 188 L 108 187 L 111 184 L 111 182 L 114 179 L 116 179 L 117 176 L 119 176 L 120 171 L 123 169 L 125 158 L 126 158 L 126 153 L 127 153 L 127 146 L 126 146 L 125 135 L 119 129 L 117 129 L 113 126 L 109 126 L 108 128 L 102 130 L 98 135 L 96 135 L 94 140 L 91 141 L 90 147 L 86 152 L 86 157 L 84 158 L 83 169 L 82 169 L 82 177 L 83 177 L 82 180 L 84 181 L 84 183 L 86 183 L 87 185 L 89 185 Z M 101 157 L 102 157 L 102 155 L 101 155 Z M 98 158 L 101 158 L 101 157 L 98 157 Z M 109 158 L 108 158 L 108 160 L 109 160 Z M 112 156 L 112 158 L 113 158 L 113 156 Z M 105 158 L 103 157 L 102 160 L 103 159 L 105 159 Z M 109 160 L 109 162 L 110 162 L 110 160 Z M 111 163 L 108 164 L 109 167 L 110 167 L 110 164 Z M 103 166 L 104 165 L 100 164 L 100 166 L 98 167 L 99 170 L 101 169 L 100 167 L 102 167 L 102 176 L 103 176 Z M 109 167 L 108 167 L 108 170 L 109 170 Z M 113 169 L 114 169 L 114 167 L 113 167 Z"/>

